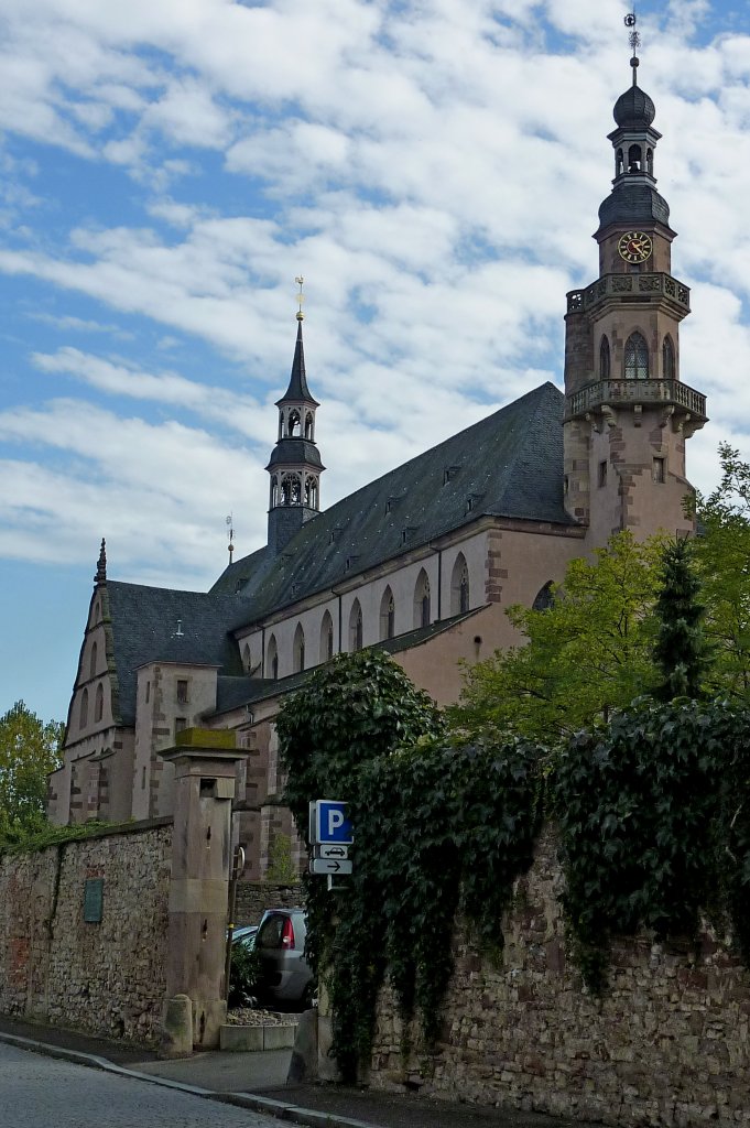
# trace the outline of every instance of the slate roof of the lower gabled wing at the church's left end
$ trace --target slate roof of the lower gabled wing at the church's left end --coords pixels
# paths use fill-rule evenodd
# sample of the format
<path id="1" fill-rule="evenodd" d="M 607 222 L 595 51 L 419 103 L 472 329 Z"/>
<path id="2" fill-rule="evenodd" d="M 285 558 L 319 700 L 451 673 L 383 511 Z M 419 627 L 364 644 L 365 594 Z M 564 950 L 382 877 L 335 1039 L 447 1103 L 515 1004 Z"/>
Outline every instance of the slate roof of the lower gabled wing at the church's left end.
<path id="1" fill-rule="evenodd" d="M 218 666 L 226 673 L 241 672 L 229 628 L 242 614 L 245 600 L 116 580 L 107 580 L 106 593 L 118 690 L 116 723 L 135 723 L 136 670 L 147 662 Z M 249 605 L 244 614 L 249 615 Z"/>

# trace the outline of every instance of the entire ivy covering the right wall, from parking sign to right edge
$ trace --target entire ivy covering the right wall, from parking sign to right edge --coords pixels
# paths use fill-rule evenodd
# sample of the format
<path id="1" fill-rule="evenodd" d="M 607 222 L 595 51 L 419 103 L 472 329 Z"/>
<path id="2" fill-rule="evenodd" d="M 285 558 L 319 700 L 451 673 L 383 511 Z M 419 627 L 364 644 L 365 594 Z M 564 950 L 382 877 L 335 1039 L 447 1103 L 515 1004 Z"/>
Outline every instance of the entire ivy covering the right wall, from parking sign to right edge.
<path id="1" fill-rule="evenodd" d="M 277 728 L 301 832 L 311 799 L 345 800 L 354 826 L 346 891 L 305 879 L 343 1076 L 369 1060 L 386 979 L 403 1019 L 438 1036 L 456 918 L 502 948 L 545 818 L 558 826 L 572 955 L 592 992 L 605 989 L 612 936 L 695 938 L 702 914 L 731 926 L 750 966 L 749 722 L 722 703 L 643 698 L 554 751 L 467 742 L 383 655 L 315 672 Z"/>

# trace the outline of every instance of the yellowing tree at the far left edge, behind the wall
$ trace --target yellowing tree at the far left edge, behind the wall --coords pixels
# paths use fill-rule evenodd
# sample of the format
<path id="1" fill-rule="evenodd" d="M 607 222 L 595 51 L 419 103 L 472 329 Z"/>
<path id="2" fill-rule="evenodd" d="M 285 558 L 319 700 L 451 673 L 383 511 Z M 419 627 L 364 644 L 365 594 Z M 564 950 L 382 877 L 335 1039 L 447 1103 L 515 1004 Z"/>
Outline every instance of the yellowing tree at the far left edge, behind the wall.
<path id="1" fill-rule="evenodd" d="M 60 767 L 64 725 L 44 723 L 23 700 L 0 717 L 0 838 L 45 821 L 47 775 Z"/>

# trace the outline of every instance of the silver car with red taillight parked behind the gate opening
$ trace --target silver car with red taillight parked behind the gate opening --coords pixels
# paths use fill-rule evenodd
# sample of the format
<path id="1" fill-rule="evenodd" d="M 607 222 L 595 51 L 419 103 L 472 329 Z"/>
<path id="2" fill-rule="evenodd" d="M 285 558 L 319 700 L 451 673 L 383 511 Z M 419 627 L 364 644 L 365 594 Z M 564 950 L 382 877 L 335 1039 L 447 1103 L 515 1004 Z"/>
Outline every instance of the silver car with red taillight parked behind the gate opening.
<path id="1" fill-rule="evenodd" d="M 258 995 L 276 1003 L 311 1006 L 315 979 L 305 959 L 305 909 L 267 909 L 255 937 Z"/>

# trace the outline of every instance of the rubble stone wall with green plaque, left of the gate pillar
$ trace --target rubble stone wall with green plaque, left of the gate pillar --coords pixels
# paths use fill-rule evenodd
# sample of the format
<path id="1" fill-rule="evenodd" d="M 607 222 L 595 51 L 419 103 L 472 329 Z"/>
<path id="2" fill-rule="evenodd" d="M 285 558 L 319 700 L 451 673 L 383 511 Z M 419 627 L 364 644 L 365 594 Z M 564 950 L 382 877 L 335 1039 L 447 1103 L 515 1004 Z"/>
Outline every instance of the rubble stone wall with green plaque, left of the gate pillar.
<path id="1" fill-rule="evenodd" d="M 0 1012 L 156 1041 L 165 998 L 171 820 L 0 858 Z M 83 920 L 104 879 L 103 918 Z"/>

